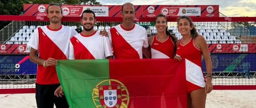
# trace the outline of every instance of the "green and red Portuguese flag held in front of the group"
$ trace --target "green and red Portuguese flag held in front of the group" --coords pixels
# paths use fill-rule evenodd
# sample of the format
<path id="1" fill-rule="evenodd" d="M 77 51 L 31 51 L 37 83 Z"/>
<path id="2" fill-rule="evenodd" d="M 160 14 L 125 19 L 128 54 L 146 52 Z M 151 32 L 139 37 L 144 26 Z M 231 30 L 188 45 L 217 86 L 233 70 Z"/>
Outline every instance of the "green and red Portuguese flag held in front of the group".
<path id="1" fill-rule="evenodd" d="M 70 108 L 187 108 L 185 61 L 58 60 Z"/>

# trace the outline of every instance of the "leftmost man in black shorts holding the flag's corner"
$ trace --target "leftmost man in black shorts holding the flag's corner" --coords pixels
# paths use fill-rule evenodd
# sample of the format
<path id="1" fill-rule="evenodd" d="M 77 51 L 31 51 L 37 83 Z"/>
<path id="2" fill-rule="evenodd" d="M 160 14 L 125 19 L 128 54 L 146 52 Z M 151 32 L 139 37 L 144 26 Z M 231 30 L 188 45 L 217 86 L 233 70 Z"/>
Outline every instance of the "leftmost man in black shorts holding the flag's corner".
<path id="1" fill-rule="evenodd" d="M 61 24 L 61 6 L 51 3 L 46 10 L 50 25 L 38 27 L 28 45 L 31 47 L 30 60 L 36 64 L 37 108 L 69 108 L 65 97 L 55 97 L 54 91 L 60 86 L 55 66 L 57 59 L 67 59 L 69 40 L 77 32 Z M 38 52 L 38 56 L 37 56 Z"/>

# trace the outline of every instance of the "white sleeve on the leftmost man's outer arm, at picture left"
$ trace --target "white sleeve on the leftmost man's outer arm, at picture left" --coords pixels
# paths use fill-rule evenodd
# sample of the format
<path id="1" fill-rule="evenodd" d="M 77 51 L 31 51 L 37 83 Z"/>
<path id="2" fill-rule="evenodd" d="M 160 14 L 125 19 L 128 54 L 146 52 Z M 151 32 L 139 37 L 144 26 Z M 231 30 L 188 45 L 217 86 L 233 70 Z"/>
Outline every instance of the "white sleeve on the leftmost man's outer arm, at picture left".
<path id="1" fill-rule="evenodd" d="M 32 47 L 33 49 L 38 50 L 39 46 L 39 33 L 38 28 L 34 30 L 34 33 L 32 34 L 28 44 L 28 46 Z"/>

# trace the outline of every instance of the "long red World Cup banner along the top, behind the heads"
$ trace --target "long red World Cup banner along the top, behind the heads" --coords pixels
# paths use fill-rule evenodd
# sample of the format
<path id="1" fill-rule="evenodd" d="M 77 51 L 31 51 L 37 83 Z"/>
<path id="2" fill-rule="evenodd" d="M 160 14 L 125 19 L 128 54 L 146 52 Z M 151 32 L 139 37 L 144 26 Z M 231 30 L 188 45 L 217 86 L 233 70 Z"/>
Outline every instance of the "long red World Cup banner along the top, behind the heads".
<path id="1" fill-rule="evenodd" d="M 49 4 L 24 4 L 23 13 L 28 16 L 46 16 Z M 122 5 L 63 5 L 64 16 L 81 16 L 83 10 L 93 10 L 98 17 L 121 17 Z M 135 5 L 136 18 L 156 17 L 162 13 L 167 17 L 219 17 L 219 5 Z"/>

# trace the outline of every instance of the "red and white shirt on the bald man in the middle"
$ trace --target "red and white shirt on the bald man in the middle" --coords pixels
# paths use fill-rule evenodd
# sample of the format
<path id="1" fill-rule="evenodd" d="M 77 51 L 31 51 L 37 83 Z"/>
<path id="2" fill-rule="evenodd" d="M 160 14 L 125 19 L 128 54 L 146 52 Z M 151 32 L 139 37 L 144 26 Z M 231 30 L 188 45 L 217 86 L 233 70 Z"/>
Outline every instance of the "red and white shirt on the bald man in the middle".
<path id="1" fill-rule="evenodd" d="M 111 28 L 108 35 L 115 59 L 142 59 L 142 47 L 149 47 L 146 29 L 137 24 L 132 29 L 119 24 Z"/>

